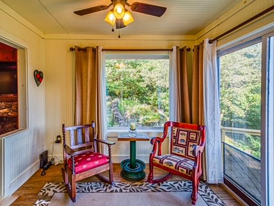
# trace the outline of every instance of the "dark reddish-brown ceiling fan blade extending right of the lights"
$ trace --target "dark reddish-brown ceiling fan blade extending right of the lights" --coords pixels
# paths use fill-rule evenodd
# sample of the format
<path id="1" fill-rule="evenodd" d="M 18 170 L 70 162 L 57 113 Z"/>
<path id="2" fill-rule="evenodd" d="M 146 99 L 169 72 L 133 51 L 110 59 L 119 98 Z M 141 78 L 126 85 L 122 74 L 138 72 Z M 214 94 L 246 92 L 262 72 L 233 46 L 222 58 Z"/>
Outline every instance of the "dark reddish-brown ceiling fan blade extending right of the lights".
<path id="1" fill-rule="evenodd" d="M 159 7 L 159 6 L 144 4 L 139 2 L 134 2 L 130 6 L 130 8 L 134 12 L 140 12 L 140 13 L 149 14 L 149 15 L 158 16 L 158 17 L 162 16 L 167 10 L 166 7 Z"/>

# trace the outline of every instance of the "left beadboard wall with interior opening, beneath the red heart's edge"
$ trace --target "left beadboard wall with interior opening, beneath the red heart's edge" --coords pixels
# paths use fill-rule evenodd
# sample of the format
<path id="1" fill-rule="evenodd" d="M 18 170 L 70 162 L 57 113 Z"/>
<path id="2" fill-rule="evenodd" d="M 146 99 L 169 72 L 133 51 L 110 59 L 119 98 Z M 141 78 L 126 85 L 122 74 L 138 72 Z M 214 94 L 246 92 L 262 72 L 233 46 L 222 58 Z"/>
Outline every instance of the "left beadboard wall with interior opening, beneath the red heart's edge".
<path id="1" fill-rule="evenodd" d="M 28 25 L 26 27 L 25 25 Z M 30 29 L 31 28 L 31 29 Z M 37 87 L 33 71 L 44 71 L 43 33 L 0 1 L 0 39 L 27 48 L 28 130 L 1 138 L 4 149 L 5 195 L 9 195 L 39 168 L 45 146 L 45 81 Z"/>

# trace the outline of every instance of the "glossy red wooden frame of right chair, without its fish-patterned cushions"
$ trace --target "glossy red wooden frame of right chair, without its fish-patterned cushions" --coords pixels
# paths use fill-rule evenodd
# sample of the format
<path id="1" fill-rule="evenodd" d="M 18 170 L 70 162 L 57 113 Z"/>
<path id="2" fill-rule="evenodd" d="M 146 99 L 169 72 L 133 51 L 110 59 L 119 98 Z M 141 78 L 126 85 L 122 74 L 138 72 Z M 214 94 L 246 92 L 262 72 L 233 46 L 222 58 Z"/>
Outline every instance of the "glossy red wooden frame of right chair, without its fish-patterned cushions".
<path id="1" fill-rule="evenodd" d="M 157 146 L 158 146 L 158 156 L 162 155 L 162 143 L 167 137 L 169 127 L 180 127 L 185 129 L 201 131 L 201 143 L 200 145 L 196 145 L 193 148 L 194 165 L 192 168 L 191 176 L 187 176 L 185 174 L 180 173 L 179 171 L 163 166 L 162 164 L 153 162 L 153 157 L 156 155 Z M 160 138 L 160 136 L 154 136 L 154 138 L 150 140 L 150 143 L 153 145 L 153 149 L 149 155 L 149 175 L 147 178 L 147 182 L 149 183 L 164 182 L 164 181 L 167 181 L 172 175 L 178 175 L 185 179 L 191 180 L 192 181 L 191 200 L 192 200 L 192 204 L 195 204 L 198 198 L 199 183 L 200 183 L 199 178 L 202 175 L 202 152 L 205 148 L 205 141 L 206 141 L 206 126 L 197 125 L 197 124 L 180 123 L 180 122 L 171 122 L 171 121 L 166 122 L 164 125 L 164 133 L 162 138 Z M 164 169 L 168 171 L 169 174 L 161 179 L 153 180 L 153 166 Z"/>

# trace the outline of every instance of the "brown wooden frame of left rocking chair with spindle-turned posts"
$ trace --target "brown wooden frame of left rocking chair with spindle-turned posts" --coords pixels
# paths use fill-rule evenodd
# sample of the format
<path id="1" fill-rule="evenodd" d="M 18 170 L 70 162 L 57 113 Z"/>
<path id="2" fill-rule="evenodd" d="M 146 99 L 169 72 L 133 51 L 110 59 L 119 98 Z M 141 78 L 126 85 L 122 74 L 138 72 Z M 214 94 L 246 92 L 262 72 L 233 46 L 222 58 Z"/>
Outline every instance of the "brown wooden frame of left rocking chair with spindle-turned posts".
<path id="1" fill-rule="evenodd" d="M 92 138 L 90 140 L 89 128 L 92 128 Z M 82 138 L 82 129 L 85 130 L 85 138 Z M 74 138 L 74 130 L 77 131 L 77 139 Z M 66 131 L 70 132 L 70 147 L 66 144 Z M 98 140 L 96 139 L 96 131 L 95 131 L 95 123 L 92 121 L 91 124 L 86 125 L 77 125 L 77 126 L 69 126 L 65 127 L 65 124 L 62 125 L 63 132 L 63 154 L 64 154 L 64 168 L 61 168 L 62 176 L 64 179 L 64 183 L 68 192 L 70 199 L 75 202 L 76 201 L 76 181 L 83 180 L 85 178 L 96 175 L 101 181 L 106 182 L 108 184 L 113 183 L 113 166 L 111 160 L 111 146 L 114 145 L 114 142 L 106 141 L 106 140 Z M 83 141 L 84 140 L 84 141 Z M 75 144 L 76 141 L 76 144 Z M 83 143 L 84 142 L 84 143 Z M 79 154 L 83 154 L 85 152 L 93 151 L 97 152 L 97 143 L 106 144 L 108 146 L 108 158 L 109 163 L 104 164 L 102 166 L 98 166 L 92 168 L 87 171 L 83 171 L 82 173 L 75 174 L 75 163 L 74 157 Z M 89 148 L 90 147 L 90 148 Z M 82 148 L 83 150 L 79 150 Z M 89 149 L 87 149 L 89 148 Z M 67 159 L 71 158 L 71 168 L 69 168 L 67 164 Z M 108 170 L 109 179 L 106 179 L 101 174 L 103 171 Z M 69 187 L 70 180 L 70 187 Z"/>

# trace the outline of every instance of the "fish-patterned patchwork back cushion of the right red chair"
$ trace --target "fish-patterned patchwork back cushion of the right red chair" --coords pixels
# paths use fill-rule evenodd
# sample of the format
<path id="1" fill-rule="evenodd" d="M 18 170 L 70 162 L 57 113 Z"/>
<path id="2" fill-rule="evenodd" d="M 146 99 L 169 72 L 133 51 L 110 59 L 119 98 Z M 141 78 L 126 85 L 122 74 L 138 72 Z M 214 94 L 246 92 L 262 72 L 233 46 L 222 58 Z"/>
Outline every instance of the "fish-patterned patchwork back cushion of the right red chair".
<path id="1" fill-rule="evenodd" d="M 171 154 L 194 160 L 193 147 L 201 144 L 201 131 L 179 125 L 171 131 Z"/>

